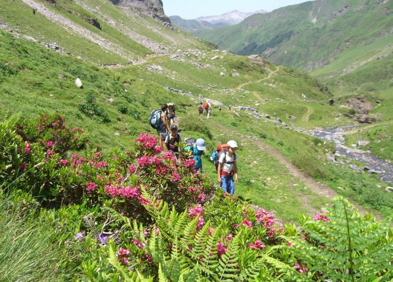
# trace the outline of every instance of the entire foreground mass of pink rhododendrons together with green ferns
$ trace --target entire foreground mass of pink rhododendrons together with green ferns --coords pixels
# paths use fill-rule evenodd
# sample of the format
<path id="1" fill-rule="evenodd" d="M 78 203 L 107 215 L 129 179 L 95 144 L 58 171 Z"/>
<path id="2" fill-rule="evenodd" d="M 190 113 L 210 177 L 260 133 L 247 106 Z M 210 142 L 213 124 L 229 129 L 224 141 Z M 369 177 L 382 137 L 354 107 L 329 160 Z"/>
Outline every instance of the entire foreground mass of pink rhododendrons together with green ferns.
<path id="1" fill-rule="evenodd" d="M 389 219 L 362 218 L 343 199 L 329 212 L 300 217 L 299 227 L 283 225 L 195 174 L 192 159 L 178 162 L 162 153 L 147 133 L 129 151 L 104 154 L 87 149 L 92 145 L 83 130 L 55 114 L 0 122 L 0 139 L 0 190 L 21 191 L 45 207 L 40 217 L 69 255 L 64 268 L 81 271 L 74 280 L 391 276 Z"/>

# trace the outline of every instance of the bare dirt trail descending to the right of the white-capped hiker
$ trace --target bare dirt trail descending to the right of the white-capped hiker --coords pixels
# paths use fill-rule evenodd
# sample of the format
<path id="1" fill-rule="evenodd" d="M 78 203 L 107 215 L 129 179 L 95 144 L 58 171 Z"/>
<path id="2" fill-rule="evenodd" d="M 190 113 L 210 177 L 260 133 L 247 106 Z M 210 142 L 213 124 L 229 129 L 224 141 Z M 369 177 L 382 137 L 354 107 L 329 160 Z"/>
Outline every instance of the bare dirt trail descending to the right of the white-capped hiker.
<path id="1" fill-rule="evenodd" d="M 242 135 L 240 132 L 236 130 L 229 129 L 225 127 L 223 124 L 217 124 L 223 131 L 224 133 L 230 133 L 230 134 L 237 134 L 238 136 L 241 136 L 243 138 L 248 138 L 252 142 L 255 143 L 256 146 L 253 146 L 255 150 L 263 150 L 267 152 L 271 157 L 276 158 L 277 160 L 280 161 L 282 165 L 284 165 L 290 174 L 292 174 L 295 178 L 298 178 L 300 181 L 302 181 L 309 189 L 311 189 L 314 193 L 321 195 L 323 197 L 328 198 L 329 200 L 333 199 L 334 197 L 338 196 L 336 191 L 331 189 L 328 185 L 325 183 L 317 182 L 311 177 L 309 177 L 305 172 L 302 172 L 297 168 L 295 165 L 293 165 L 287 158 L 283 155 L 281 155 L 280 151 L 275 149 L 274 147 L 263 143 L 260 139 L 254 137 L 254 136 L 248 136 L 248 135 Z M 304 196 L 302 198 L 302 204 L 303 206 L 309 210 L 310 212 L 314 212 L 314 208 L 309 205 L 309 202 L 312 201 L 312 198 L 309 198 L 307 196 Z M 353 204 L 355 208 L 359 210 L 359 212 L 364 215 L 365 213 L 370 213 L 369 210 L 366 210 L 362 208 L 359 205 Z M 374 214 L 375 218 L 379 221 L 383 220 L 383 218 L 380 215 Z"/>

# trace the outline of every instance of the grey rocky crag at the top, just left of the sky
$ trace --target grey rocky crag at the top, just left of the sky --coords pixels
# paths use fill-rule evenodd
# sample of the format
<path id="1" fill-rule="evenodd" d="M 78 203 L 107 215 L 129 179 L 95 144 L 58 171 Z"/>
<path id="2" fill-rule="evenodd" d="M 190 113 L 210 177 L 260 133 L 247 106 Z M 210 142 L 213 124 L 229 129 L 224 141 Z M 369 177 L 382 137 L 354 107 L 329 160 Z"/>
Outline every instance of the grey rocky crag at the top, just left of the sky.
<path id="1" fill-rule="evenodd" d="M 161 0 L 110 0 L 110 2 L 124 9 L 138 9 L 167 28 L 175 30 L 171 20 L 164 13 Z"/>

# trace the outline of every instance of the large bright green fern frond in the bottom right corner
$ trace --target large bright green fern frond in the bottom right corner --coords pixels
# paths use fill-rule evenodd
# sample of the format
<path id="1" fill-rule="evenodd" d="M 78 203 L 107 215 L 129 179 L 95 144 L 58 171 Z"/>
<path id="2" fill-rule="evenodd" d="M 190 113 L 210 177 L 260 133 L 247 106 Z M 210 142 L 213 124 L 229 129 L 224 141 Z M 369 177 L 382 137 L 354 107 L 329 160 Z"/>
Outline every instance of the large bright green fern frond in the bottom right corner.
<path id="1" fill-rule="evenodd" d="M 293 256 L 310 265 L 320 278 L 367 281 L 391 275 L 386 272 L 393 257 L 391 217 L 377 223 L 363 219 L 350 207 L 339 198 L 329 214 L 329 222 L 305 224 L 306 241 L 285 238 L 294 245 Z"/>

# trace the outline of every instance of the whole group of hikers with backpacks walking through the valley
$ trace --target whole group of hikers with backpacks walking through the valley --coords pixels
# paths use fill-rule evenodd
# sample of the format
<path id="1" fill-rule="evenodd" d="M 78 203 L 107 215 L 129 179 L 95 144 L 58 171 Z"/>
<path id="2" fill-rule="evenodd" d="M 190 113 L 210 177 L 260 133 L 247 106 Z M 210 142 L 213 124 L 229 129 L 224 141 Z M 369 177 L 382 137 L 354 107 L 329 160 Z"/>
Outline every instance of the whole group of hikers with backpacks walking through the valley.
<path id="1" fill-rule="evenodd" d="M 198 105 L 200 118 L 202 119 L 203 108 L 205 108 L 207 118 L 210 116 L 212 109 L 209 100 L 205 105 L 201 102 Z M 163 104 L 161 110 L 153 110 L 150 115 L 149 123 L 157 130 L 158 142 L 162 152 L 172 152 L 176 159 L 181 161 L 179 144 L 182 141 L 176 124 L 173 124 L 176 116 L 175 106 L 173 103 Z M 202 170 L 202 156 L 205 155 L 206 146 L 203 138 L 194 139 L 186 138 L 184 140 L 185 156 L 194 159 L 194 169 L 198 174 Z M 217 171 L 217 180 L 225 192 L 231 195 L 235 192 L 235 183 L 237 183 L 237 143 L 229 140 L 226 144 L 220 144 L 217 150 L 212 154 L 211 160 L 214 162 Z"/>

